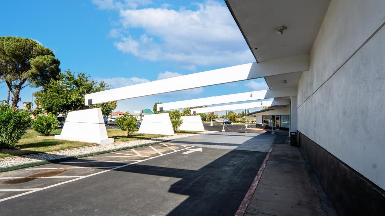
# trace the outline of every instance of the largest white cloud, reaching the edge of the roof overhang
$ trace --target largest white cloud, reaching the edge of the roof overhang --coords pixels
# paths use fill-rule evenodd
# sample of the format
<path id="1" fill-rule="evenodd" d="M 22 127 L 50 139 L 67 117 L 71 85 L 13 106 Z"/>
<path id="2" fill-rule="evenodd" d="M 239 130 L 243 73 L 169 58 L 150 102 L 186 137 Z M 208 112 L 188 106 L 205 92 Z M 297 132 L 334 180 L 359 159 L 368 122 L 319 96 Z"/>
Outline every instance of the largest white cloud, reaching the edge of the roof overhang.
<path id="1" fill-rule="evenodd" d="M 94 3 L 99 1 L 94 0 Z M 96 4 L 99 8 L 117 8 L 114 1 L 102 3 L 106 5 Z M 138 4 L 144 5 L 143 2 Z M 182 7 L 172 10 L 167 9 L 167 5 L 142 9 L 120 7 L 121 28 L 141 29 L 143 33 L 121 36 L 114 42 L 115 47 L 138 58 L 172 61 L 189 70 L 196 70 L 196 66 L 229 66 L 255 61 L 223 3 L 209 0 L 196 5 L 194 10 Z"/>

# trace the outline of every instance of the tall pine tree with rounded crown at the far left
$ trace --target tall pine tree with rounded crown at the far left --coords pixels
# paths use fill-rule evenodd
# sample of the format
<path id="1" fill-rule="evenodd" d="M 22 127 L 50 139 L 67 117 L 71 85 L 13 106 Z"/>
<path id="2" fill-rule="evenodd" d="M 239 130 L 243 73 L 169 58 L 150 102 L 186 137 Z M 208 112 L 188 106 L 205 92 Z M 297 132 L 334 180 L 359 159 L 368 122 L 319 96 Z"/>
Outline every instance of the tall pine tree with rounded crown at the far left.
<path id="1" fill-rule="evenodd" d="M 59 65 L 52 50 L 34 40 L 0 37 L 0 80 L 13 95 L 12 107 L 17 106 L 20 90 L 26 86 L 44 86 L 57 79 Z"/>

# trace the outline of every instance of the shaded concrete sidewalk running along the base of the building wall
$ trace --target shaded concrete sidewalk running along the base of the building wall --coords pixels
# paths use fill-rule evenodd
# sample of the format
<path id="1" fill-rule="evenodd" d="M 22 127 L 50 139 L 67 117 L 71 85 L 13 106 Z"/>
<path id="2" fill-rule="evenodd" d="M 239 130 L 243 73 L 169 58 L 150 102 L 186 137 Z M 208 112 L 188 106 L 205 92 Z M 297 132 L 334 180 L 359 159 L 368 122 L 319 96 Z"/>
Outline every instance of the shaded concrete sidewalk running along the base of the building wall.
<path id="1" fill-rule="evenodd" d="M 299 148 L 277 136 L 245 216 L 337 215 Z"/>

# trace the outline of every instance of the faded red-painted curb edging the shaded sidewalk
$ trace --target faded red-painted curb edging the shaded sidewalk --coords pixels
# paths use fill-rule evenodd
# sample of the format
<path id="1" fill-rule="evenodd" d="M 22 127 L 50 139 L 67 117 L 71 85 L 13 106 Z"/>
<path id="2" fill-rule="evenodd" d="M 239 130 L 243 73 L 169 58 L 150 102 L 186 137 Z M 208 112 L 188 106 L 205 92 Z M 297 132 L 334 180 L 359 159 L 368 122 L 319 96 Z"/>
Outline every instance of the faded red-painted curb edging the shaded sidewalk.
<path id="1" fill-rule="evenodd" d="M 246 213 L 246 209 L 249 206 L 251 198 L 254 195 L 255 189 L 258 186 L 258 183 L 259 183 L 259 180 L 261 179 L 264 168 L 266 167 L 266 163 L 269 160 L 271 152 L 273 151 L 274 145 L 275 145 L 274 143 L 271 145 L 269 152 L 267 153 L 265 159 L 262 162 L 261 167 L 258 170 L 257 175 L 254 178 L 253 183 L 251 183 L 251 186 L 250 186 L 249 190 L 247 191 L 246 196 L 244 196 L 242 203 L 239 205 L 239 208 L 238 208 L 238 210 L 234 216 L 244 216 L 244 214 Z"/>

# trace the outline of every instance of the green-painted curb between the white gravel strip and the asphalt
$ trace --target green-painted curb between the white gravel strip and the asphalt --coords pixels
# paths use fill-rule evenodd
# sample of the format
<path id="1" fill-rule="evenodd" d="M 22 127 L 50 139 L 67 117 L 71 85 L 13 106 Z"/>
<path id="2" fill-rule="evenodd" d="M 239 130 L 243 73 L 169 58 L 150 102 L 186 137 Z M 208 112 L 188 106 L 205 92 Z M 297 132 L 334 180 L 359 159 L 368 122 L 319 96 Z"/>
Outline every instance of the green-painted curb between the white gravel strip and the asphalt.
<path id="1" fill-rule="evenodd" d="M 40 166 L 40 165 L 49 164 L 49 163 L 56 163 L 59 161 L 84 158 L 84 157 L 88 157 L 88 156 L 92 156 L 92 155 L 100 155 L 100 154 L 109 153 L 109 152 L 113 152 L 113 151 L 121 151 L 121 150 L 126 150 L 126 149 L 131 149 L 131 148 L 142 147 L 142 146 L 149 146 L 149 145 L 154 145 L 157 143 L 162 143 L 165 141 L 176 140 L 176 139 L 177 138 L 169 139 L 169 140 L 156 141 L 154 143 L 144 143 L 144 144 L 138 144 L 138 145 L 134 145 L 134 146 L 114 148 L 114 149 L 105 150 L 105 151 L 97 151 L 97 152 L 92 152 L 92 153 L 87 153 L 87 154 L 82 154 L 82 155 L 76 155 L 76 156 L 68 156 L 68 157 L 64 157 L 64 158 L 57 158 L 57 159 L 52 159 L 52 160 L 47 160 L 47 161 L 36 161 L 36 162 L 32 162 L 32 163 L 24 163 L 24 164 L 19 164 L 19 165 L 14 165 L 14 166 L 5 166 L 5 167 L 0 168 L 0 173 L 12 171 L 15 169 L 22 169 L 22 168 L 27 168 L 27 167 L 32 167 L 32 166 Z"/>

